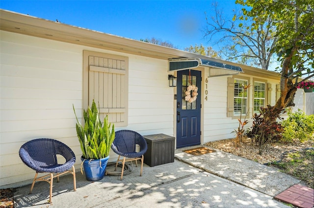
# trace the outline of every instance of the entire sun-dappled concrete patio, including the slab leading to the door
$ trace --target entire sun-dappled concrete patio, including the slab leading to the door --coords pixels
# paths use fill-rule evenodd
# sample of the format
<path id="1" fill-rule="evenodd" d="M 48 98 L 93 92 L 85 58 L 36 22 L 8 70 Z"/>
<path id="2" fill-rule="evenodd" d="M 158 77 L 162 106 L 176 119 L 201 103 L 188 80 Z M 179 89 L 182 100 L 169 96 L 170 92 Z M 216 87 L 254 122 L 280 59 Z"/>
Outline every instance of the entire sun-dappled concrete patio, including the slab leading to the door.
<path id="1" fill-rule="evenodd" d="M 191 148 L 191 147 L 190 147 Z M 17 188 L 15 208 L 288 208 L 273 199 L 299 181 L 257 162 L 216 151 L 192 156 L 175 151 L 175 162 L 155 167 L 134 167 L 130 175 L 105 176 L 89 182 L 77 173 L 77 191 L 70 175 L 54 183 L 38 182 Z M 108 167 L 109 170 L 112 167 Z"/>

